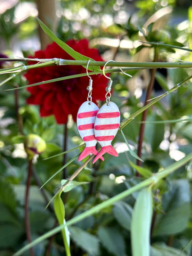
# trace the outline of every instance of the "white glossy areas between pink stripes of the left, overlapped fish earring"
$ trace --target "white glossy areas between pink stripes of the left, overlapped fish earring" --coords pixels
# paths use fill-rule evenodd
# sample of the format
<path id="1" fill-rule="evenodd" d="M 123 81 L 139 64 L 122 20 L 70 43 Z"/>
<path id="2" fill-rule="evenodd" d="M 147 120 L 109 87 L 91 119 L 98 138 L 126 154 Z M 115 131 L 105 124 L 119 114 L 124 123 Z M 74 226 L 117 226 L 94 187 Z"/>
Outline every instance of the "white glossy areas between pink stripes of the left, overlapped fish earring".
<path id="1" fill-rule="evenodd" d="M 88 101 L 85 101 L 80 106 L 80 108 L 77 112 L 77 116 L 78 116 L 79 113 L 95 111 L 95 110 L 99 110 L 99 108 L 97 107 L 97 105 L 95 103 L 92 102 L 91 104 L 89 104 Z M 85 117 L 85 118 L 78 118 L 77 117 L 77 129 L 78 129 L 79 125 L 94 123 L 95 122 L 95 117 L 96 116 Z M 79 131 L 79 129 L 78 129 L 78 132 L 79 132 L 79 135 L 82 138 L 82 140 L 85 136 L 94 135 L 94 129 L 88 129 L 88 130 L 84 130 L 84 131 Z M 95 146 L 96 144 L 97 144 L 97 140 L 85 141 L 86 147 L 92 147 L 92 146 Z"/>

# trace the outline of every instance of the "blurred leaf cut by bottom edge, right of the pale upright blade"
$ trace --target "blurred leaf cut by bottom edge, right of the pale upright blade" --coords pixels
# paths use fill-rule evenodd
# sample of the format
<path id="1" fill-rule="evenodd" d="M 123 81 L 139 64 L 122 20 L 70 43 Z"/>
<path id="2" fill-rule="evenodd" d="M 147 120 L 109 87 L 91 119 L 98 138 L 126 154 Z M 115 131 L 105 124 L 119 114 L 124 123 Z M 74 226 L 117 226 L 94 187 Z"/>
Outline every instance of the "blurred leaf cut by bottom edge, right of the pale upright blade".
<path id="1" fill-rule="evenodd" d="M 164 243 L 155 243 L 151 246 L 151 256 L 187 256 L 186 253 L 181 250 L 175 249 L 171 246 L 167 246 Z"/>

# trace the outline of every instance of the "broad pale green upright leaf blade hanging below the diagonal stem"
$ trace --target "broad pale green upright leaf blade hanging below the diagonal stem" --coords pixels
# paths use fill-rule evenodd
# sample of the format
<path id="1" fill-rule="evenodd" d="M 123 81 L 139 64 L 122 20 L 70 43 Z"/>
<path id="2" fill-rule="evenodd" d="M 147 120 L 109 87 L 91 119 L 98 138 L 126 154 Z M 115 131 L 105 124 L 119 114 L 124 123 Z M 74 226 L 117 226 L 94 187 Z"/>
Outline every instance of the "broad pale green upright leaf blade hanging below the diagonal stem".
<path id="1" fill-rule="evenodd" d="M 131 244 L 132 256 L 149 256 L 150 227 L 152 217 L 152 195 L 150 188 L 143 188 L 136 200 L 132 213 Z"/>

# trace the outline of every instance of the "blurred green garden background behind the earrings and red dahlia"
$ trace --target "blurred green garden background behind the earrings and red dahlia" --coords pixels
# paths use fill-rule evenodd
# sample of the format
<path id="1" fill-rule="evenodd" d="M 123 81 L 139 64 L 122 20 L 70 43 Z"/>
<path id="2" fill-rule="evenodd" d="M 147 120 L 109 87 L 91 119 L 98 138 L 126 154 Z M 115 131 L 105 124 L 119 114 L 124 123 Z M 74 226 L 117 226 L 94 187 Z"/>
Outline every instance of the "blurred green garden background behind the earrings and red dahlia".
<path id="1" fill-rule="evenodd" d="M 0 0 L 0 57 L 34 56 L 34 52 L 45 51 L 47 45 L 52 44 L 52 40 L 40 28 L 36 19 L 38 16 L 64 42 L 71 39 L 76 41 L 87 39 L 89 48 L 98 49 L 105 61 L 152 62 L 154 47 L 140 41 L 191 48 L 191 4 L 190 0 Z M 86 55 L 86 51 L 83 54 Z M 90 57 L 94 59 L 94 56 Z M 156 61 L 178 60 L 191 61 L 191 52 L 163 46 L 158 48 Z M 19 64 L 0 62 L 0 68 L 17 65 L 23 65 L 23 62 Z M 72 74 L 76 74 L 76 70 L 71 69 L 74 72 Z M 36 71 L 37 75 L 38 72 Z M 68 71 L 66 72 L 69 75 Z M 130 71 L 129 74 L 132 78 L 122 73 L 111 74 L 114 81 L 112 101 L 120 108 L 121 120 L 143 107 L 146 88 L 151 79 L 151 71 L 148 69 Z M 0 81 L 8 78 L 9 75 L 1 75 Z M 168 91 L 190 75 L 192 71 L 189 68 L 157 69 L 152 97 Z M 62 75 L 60 71 L 59 76 L 65 74 Z M 53 206 L 46 210 L 44 207 L 59 188 L 63 173 L 60 172 L 47 183 L 43 192 L 39 192 L 39 186 L 63 164 L 76 156 L 78 149 L 64 155 L 64 158 L 57 156 L 46 161 L 43 159 L 82 143 L 71 114 L 68 115 L 67 124 L 58 124 L 53 115 L 40 116 L 38 106 L 40 103 L 37 103 L 38 105 L 26 103 L 30 96 L 26 89 L 4 91 L 13 86 L 31 83 L 26 77 L 23 74 L 16 76 L 0 87 L 0 256 L 12 255 L 27 243 L 24 196 L 28 151 L 26 146 L 24 148 L 23 138 L 29 134 L 36 134 L 46 142 L 44 152 L 33 157 L 29 196 L 32 240 L 57 225 Z M 39 79 L 36 82 L 47 80 L 44 73 L 39 75 Z M 71 83 L 70 80 L 67 81 Z M 86 90 L 87 85 L 88 78 L 82 90 Z M 189 82 L 149 109 L 147 116 L 149 123 L 145 125 L 141 158 L 144 160 L 143 166 L 151 172 L 162 170 L 191 152 L 191 122 L 166 122 L 191 118 L 191 98 L 192 87 Z M 100 100 L 98 104 L 101 106 L 102 101 Z M 126 139 L 135 153 L 138 149 L 140 121 L 141 115 L 124 128 Z M 154 123 L 154 121 L 162 122 Z M 105 156 L 105 162 L 94 166 L 88 164 L 76 180 L 89 183 L 62 195 L 66 220 L 144 179 L 135 177 L 135 170 L 128 163 L 124 153 L 124 151 L 129 153 L 129 150 L 120 133 L 116 135 L 113 144 L 119 157 L 108 155 Z M 129 155 L 129 158 L 135 162 L 132 155 Z M 68 165 L 65 169 L 65 178 L 76 171 L 81 164 L 76 159 Z M 170 175 L 164 180 L 160 189 L 154 191 L 154 211 L 157 212 L 157 217 L 151 238 L 152 256 L 178 255 L 190 241 L 191 179 L 190 163 L 187 168 L 182 167 Z M 125 201 L 108 207 L 72 227 L 69 230 L 71 254 L 131 255 L 130 221 L 128 218 L 126 222 L 122 219 L 127 214 L 130 215 L 136 196 L 137 194 L 133 194 Z M 167 215 L 164 214 L 165 212 Z M 175 221 L 178 222 L 175 224 Z M 168 246 L 170 251 L 167 251 Z M 52 240 L 47 239 L 36 245 L 34 251 L 35 255 L 40 256 L 64 255 L 61 235 L 57 234 Z M 191 255 L 191 252 L 191 247 L 188 246 L 181 255 Z M 23 255 L 29 255 L 29 252 Z"/>

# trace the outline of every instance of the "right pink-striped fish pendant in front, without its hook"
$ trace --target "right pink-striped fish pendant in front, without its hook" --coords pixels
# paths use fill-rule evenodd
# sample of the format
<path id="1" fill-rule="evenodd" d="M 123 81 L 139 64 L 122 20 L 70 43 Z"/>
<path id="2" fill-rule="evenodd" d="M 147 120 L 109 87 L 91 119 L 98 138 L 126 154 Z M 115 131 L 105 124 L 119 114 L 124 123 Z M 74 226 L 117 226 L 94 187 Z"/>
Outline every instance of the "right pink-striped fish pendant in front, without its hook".
<path id="1" fill-rule="evenodd" d="M 118 156 L 116 150 L 111 146 L 112 140 L 118 131 L 120 124 L 119 108 L 114 102 L 109 105 L 105 103 L 97 112 L 94 124 L 95 139 L 101 145 L 101 151 L 94 158 L 93 164 L 105 153 Z"/>

